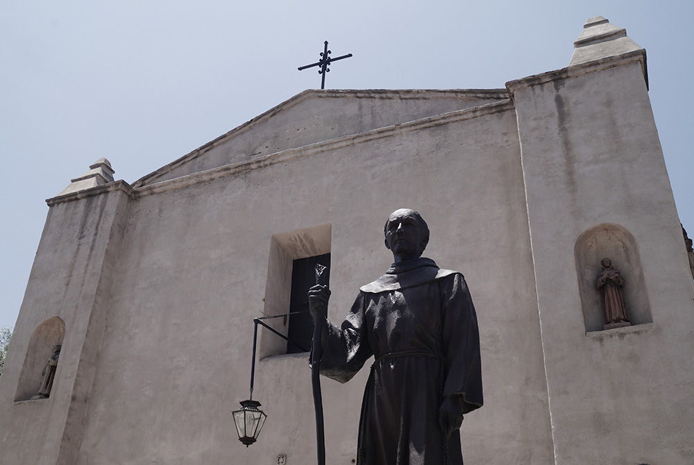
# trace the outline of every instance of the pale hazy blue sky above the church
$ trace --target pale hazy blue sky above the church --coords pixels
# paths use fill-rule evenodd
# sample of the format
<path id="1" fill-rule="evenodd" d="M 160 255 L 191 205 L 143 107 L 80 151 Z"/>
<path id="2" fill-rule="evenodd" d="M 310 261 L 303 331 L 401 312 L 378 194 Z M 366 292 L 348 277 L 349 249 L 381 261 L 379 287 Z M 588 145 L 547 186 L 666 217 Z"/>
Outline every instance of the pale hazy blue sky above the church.
<path id="1" fill-rule="evenodd" d="M 680 219 L 694 235 L 691 22 L 661 1 L 6 2 L 0 16 L 0 328 L 14 326 L 44 200 L 105 157 L 128 183 L 295 94 L 327 87 L 503 88 L 566 67 L 602 15 L 648 53 L 650 99 Z"/>

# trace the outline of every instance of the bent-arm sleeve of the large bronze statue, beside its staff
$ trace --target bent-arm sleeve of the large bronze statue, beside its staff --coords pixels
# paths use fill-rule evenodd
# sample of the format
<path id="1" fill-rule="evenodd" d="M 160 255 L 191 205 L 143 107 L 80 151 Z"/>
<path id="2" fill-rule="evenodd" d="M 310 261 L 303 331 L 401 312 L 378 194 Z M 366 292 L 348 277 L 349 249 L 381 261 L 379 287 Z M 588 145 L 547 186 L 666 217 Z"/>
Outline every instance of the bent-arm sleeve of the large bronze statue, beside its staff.
<path id="1" fill-rule="evenodd" d="M 341 328 L 328 323 L 328 343 L 321 357 L 321 375 L 348 382 L 373 355 L 364 318 L 364 292 L 359 292 Z"/>

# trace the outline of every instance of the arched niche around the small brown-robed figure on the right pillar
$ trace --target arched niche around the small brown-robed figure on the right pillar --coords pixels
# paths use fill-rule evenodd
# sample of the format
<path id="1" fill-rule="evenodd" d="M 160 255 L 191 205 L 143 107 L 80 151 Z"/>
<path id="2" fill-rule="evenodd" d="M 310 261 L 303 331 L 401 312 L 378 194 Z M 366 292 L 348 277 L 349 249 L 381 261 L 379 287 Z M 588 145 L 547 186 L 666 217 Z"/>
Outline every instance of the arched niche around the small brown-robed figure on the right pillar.
<path id="1" fill-rule="evenodd" d="M 632 233 L 613 223 L 602 223 L 582 233 L 576 241 L 575 260 L 583 318 L 587 331 L 600 331 L 605 324 L 604 294 L 595 289 L 595 279 L 608 257 L 625 280 L 625 304 L 632 325 L 651 323 L 648 289 L 638 257 L 638 246 Z"/>

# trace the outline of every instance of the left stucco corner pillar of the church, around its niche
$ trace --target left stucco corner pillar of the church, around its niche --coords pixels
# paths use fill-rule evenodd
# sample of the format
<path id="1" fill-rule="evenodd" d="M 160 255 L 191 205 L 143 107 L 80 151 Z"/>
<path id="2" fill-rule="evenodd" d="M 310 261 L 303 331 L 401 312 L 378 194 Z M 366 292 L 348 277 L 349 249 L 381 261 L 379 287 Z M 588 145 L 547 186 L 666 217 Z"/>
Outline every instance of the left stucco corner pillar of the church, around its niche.
<path id="1" fill-rule="evenodd" d="M 117 187 L 117 185 L 112 185 Z M 74 463 L 96 371 L 110 284 L 118 262 L 127 196 L 60 203 L 49 211 L 0 378 L 0 463 Z M 51 397 L 13 403 L 29 341 L 43 321 L 59 318 L 65 339 Z M 49 355 L 36 365 L 34 376 Z"/>

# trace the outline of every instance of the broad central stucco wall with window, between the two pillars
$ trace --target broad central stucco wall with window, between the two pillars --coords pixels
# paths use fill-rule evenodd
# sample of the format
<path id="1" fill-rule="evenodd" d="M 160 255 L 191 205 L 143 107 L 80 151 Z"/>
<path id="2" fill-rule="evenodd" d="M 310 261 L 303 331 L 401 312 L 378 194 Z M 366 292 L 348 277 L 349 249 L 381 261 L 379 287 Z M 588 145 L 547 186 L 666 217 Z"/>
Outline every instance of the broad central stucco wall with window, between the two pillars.
<path id="1" fill-rule="evenodd" d="M 230 415 L 248 394 L 252 319 L 264 308 L 271 236 L 330 223 L 330 314 L 340 320 L 359 285 L 389 266 L 382 223 L 403 205 L 430 224 L 427 255 L 466 274 L 479 313 L 487 405 L 465 421 L 465 456 L 475 463 L 493 453 L 510 462 L 520 452 L 534 457 L 526 463 L 549 463 L 516 140 L 506 105 L 338 149 L 299 151 L 287 162 L 131 203 L 78 463 L 230 456 L 264 463 L 282 453 L 291 463 L 312 462 L 306 355 L 257 364 L 254 398 L 269 414 L 258 443 L 238 443 Z M 355 455 L 367 370 L 344 386 L 323 380 L 330 463 Z"/>

